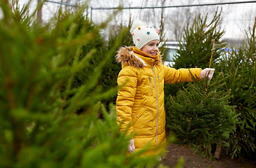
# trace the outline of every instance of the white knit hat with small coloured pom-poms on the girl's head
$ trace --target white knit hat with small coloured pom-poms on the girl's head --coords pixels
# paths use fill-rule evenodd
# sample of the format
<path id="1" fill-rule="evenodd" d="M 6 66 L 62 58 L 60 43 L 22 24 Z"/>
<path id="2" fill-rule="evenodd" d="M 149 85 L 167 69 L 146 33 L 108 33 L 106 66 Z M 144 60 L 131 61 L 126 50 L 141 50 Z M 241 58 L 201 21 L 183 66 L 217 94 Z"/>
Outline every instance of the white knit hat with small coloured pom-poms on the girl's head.
<path id="1" fill-rule="evenodd" d="M 158 29 L 144 25 L 141 20 L 134 21 L 131 31 L 134 44 L 139 50 L 150 41 L 160 40 Z"/>

